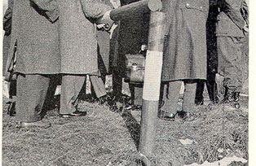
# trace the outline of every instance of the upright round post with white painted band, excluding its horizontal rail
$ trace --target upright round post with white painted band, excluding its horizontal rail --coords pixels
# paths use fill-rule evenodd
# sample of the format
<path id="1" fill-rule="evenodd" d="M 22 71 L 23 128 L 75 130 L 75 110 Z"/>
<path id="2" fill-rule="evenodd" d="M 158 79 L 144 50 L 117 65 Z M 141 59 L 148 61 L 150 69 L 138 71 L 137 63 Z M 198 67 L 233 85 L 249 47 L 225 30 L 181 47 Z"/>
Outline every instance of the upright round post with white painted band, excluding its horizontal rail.
<path id="1" fill-rule="evenodd" d="M 160 11 L 152 12 L 150 15 L 139 139 L 139 152 L 147 158 L 153 156 L 157 130 L 157 111 L 165 36 L 164 19 L 165 14 Z"/>

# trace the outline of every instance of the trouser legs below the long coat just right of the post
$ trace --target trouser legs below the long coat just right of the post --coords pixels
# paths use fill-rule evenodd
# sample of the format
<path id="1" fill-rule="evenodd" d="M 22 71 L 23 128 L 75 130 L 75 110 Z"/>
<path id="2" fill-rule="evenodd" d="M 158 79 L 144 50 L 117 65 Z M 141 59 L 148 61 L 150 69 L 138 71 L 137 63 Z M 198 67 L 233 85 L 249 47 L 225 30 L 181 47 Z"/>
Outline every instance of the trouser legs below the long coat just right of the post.
<path id="1" fill-rule="evenodd" d="M 161 116 L 173 116 L 177 113 L 182 82 L 170 81 L 162 83 L 160 99 Z M 193 112 L 196 109 L 195 98 L 196 81 L 184 81 L 182 111 Z"/>

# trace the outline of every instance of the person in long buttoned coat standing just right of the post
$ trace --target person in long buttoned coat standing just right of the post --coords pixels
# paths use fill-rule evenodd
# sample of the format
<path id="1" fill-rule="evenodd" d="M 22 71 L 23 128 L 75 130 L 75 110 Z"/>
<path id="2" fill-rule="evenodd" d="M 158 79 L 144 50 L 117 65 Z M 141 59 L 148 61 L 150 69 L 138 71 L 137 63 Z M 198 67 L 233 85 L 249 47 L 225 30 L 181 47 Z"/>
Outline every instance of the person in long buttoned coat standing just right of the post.
<path id="1" fill-rule="evenodd" d="M 166 12 L 166 43 L 162 67 L 162 81 L 166 82 L 163 96 L 164 114 L 176 114 L 181 81 L 184 82 L 184 118 L 192 117 L 195 109 L 196 82 L 206 79 L 205 26 L 209 2 L 205 0 L 163 1 Z M 190 112 L 190 113 L 188 113 Z"/>

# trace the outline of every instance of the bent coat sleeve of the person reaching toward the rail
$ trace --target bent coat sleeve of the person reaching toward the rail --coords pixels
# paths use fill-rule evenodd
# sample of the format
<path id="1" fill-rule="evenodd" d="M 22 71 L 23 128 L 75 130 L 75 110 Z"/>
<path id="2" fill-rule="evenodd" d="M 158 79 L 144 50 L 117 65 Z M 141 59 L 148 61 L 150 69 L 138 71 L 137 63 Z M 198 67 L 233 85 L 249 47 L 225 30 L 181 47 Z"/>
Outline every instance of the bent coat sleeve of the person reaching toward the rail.
<path id="1" fill-rule="evenodd" d="M 100 0 L 80 0 L 82 5 L 82 11 L 86 15 L 86 18 L 90 20 L 97 20 L 104 15 L 106 11 L 110 11 L 113 7 L 110 7 Z"/>

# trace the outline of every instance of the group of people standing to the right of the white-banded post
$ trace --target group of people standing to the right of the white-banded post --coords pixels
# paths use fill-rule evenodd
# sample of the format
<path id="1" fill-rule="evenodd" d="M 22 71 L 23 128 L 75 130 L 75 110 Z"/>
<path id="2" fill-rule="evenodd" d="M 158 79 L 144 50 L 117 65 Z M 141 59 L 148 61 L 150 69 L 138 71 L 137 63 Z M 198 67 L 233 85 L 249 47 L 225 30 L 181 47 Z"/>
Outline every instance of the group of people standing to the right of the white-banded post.
<path id="1" fill-rule="evenodd" d="M 173 119 L 178 114 L 193 120 L 196 105 L 203 104 L 205 83 L 212 103 L 239 109 L 245 72 L 242 70 L 245 64 L 243 48 L 248 45 L 247 2 L 164 2 L 169 6 L 164 5 L 168 44 L 162 68 L 162 81 L 167 81 L 162 88 L 163 116 Z M 219 77 L 223 77 L 223 81 L 217 81 L 217 85 Z M 183 111 L 177 112 L 181 82 L 184 84 Z"/>

